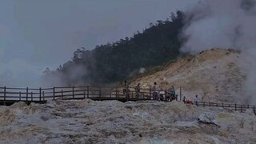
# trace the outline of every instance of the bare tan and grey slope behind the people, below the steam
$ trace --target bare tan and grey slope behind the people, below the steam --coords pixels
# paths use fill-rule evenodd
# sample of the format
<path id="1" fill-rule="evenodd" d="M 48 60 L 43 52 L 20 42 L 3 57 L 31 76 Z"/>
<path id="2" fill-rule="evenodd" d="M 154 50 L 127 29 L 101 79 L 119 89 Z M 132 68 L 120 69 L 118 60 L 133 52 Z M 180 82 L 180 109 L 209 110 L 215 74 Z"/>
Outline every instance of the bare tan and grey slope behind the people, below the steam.
<path id="1" fill-rule="evenodd" d="M 212 49 L 196 56 L 180 58 L 156 74 L 137 78 L 130 85 L 138 82 L 149 88 L 158 82 L 163 89 L 174 86 L 182 97 L 194 98 L 198 94 L 204 102 L 246 102 L 242 97 L 242 83 L 245 74 L 238 69 L 240 54 L 235 50 Z"/>

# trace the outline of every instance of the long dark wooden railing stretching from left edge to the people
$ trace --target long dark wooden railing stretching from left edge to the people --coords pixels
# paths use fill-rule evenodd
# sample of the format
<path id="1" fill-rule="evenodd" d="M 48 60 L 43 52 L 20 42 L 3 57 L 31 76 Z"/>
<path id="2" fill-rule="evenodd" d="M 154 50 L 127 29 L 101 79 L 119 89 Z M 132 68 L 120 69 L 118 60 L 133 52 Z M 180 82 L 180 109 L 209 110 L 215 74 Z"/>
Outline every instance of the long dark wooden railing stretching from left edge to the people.
<path id="1" fill-rule="evenodd" d="M 130 88 L 128 93 L 123 92 L 122 87 L 114 86 L 70 86 L 52 88 L 10 88 L 0 87 L 0 101 L 23 101 L 40 102 L 46 100 L 79 99 L 79 98 L 126 98 L 126 99 L 150 99 L 152 97 L 150 89 L 141 89 L 136 94 L 134 88 Z M 135 99 L 134 99 L 135 100 Z"/>

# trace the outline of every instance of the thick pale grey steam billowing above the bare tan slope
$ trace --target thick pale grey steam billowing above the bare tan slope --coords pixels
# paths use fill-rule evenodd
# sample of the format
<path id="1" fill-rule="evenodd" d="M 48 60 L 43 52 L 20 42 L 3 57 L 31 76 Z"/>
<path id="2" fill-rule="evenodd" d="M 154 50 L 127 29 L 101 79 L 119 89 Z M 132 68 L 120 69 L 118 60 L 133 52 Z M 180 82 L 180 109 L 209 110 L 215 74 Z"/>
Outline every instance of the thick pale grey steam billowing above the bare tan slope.
<path id="1" fill-rule="evenodd" d="M 256 1 L 205 0 L 186 11 L 182 52 L 197 54 L 202 50 L 232 48 L 241 50 L 238 64 L 246 73 L 244 90 L 250 102 L 256 103 Z"/>

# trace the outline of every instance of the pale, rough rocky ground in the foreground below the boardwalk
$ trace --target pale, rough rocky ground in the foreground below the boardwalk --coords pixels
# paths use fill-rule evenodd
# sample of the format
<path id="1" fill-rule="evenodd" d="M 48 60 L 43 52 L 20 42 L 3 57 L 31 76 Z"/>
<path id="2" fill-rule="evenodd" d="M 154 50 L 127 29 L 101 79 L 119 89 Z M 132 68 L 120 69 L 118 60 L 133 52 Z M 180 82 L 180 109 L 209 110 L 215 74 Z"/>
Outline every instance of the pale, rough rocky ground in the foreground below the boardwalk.
<path id="1" fill-rule="evenodd" d="M 252 110 L 89 99 L 0 106 L 1 143 L 255 143 Z"/>

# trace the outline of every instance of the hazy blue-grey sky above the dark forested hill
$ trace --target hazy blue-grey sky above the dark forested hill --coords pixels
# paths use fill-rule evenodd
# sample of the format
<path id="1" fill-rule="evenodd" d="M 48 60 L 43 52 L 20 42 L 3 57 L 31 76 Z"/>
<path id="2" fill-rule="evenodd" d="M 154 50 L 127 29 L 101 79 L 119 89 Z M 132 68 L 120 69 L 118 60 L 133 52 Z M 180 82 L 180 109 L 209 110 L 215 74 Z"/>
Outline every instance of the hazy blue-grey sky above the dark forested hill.
<path id="1" fill-rule="evenodd" d="M 130 37 L 198 0 L 0 0 L 0 85 L 34 83 L 74 50 Z"/>

